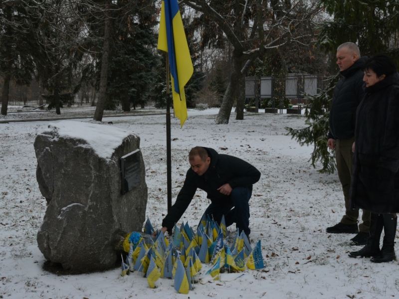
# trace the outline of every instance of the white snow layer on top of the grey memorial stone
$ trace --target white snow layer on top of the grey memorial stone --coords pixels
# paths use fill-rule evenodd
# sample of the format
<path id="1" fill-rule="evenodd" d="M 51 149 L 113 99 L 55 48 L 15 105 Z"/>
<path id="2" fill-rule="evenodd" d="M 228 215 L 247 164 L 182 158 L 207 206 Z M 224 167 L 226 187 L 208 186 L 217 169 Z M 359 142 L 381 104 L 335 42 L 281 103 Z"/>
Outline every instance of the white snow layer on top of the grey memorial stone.
<path id="1" fill-rule="evenodd" d="M 37 134 L 50 133 L 54 131 L 62 138 L 73 138 L 83 140 L 86 144 L 81 147 L 90 146 L 101 158 L 109 159 L 122 141 L 132 134 L 132 132 L 116 128 L 109 125 L 83 123 L 76 121 L 61 121 L 49 123 L 46 128 L 41 128 Z"/>

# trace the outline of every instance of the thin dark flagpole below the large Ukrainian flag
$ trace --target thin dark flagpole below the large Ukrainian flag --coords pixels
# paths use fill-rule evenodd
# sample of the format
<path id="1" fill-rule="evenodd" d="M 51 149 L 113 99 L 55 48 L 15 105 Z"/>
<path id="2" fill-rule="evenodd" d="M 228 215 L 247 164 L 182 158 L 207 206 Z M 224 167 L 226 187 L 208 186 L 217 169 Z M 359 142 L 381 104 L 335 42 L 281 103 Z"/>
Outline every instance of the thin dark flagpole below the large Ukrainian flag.
<path id="1" fill-rule="evenodd" d="M 166 53 L 166 172 L 167 172 L 167 193 L 168 213 L 172 207 L 172 154 L 171 154 L 171 99 L 169 90 L 169 54 Z M 172 232 L 172 227 L 168 227 Z"/>

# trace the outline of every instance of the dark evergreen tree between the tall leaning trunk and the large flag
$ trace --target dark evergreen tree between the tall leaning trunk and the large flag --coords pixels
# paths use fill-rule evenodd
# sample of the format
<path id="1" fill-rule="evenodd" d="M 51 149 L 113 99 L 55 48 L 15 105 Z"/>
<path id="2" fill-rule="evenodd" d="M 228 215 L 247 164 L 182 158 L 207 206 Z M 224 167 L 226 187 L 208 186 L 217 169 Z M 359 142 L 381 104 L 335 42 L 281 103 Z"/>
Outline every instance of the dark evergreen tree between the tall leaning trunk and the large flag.
<path id="1" fill-rule="evenodd" d="M 144 105 L 153 85 L 152 69 L 158 65 L 154 52 L 157 43 L 153 28 L 157 24 L 155 1 L 118 1 L 115 11 L 114 40 L 109 65 L 108 96 L 120 100 L 122 109 Z"/>

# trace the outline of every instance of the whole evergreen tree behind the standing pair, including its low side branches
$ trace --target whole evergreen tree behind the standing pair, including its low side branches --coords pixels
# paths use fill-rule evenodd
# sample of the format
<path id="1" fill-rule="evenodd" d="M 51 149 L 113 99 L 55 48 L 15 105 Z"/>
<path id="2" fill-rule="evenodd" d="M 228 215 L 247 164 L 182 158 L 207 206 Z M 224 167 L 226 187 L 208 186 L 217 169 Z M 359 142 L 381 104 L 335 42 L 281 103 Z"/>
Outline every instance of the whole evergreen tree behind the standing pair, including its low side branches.
<path id="1" fill-rule="evenodd" d="M 399 2 L 397 0 L 319 0 L 332 20 L 320 25 L 318 43 L 331 55 L 335 55 L 337 47 L 347 41 L 358 42 L 363 55 L 387 53 L 397 63 L 399 51 L 397 44 L 399 28 Z M 306 124 L 304 129 L 286 128 L 292 138 L 301 146 L 314 145 L 311 160 L 315 166 L 321 161 L 321 172 L 332 173 L 335 170 L 334 153 L 327 149 L 329 130 L 328 108 L 332 100 L 332 92 L 339 80 L 338 73 L 329 82 L 327 89 L 319 95 L 305 97 L 309 100 L 306 107 Z M 321 109 L 325 110 L 323 114 Z"/>

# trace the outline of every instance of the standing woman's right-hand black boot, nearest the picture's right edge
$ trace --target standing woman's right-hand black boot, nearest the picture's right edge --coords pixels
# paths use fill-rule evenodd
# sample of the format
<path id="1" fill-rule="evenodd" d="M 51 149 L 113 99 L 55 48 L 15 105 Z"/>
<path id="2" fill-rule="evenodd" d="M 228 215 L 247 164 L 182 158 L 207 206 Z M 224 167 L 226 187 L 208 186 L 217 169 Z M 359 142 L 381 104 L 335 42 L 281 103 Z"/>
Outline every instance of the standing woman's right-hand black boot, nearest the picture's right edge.
<path id="1" fill-rule="evenodd" d="M 396 214 L 383 214 L 384 216 L 384 241 L 383 248 L 378 256 L 371 259 L 373 263 L 386 263 L 396 260 L 395 236 L 398 218 Z"/>

